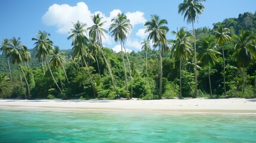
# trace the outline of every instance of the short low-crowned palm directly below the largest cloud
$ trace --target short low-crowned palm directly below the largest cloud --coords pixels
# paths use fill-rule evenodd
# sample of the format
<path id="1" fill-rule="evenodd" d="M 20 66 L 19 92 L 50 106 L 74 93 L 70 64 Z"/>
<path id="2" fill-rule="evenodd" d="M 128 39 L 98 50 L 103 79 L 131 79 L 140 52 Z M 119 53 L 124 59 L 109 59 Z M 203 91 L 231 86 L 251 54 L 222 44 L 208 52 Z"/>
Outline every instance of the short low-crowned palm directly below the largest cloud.
<path id="1" fill-rule="evenodd" d="M 50 63 L 53 64 L 53 67 L 58 68 L 59 76 L 60 76 L 60 67 L 64 70 L 64 74 L 66 76 L 67 82 L 69 83 L 69 79 L 67 78 L 67 74 L 64 68 L 64 64 L 66 63 L 66 53 L 65 52 L 60 52 L 60 48 L 58 46 L 54 46 L 53 51 L 50 53 Z M 60 77 L 60 82 L 61 82 L 61 77 Z M 61 83 L 62 89 L 63 85 Z"/>

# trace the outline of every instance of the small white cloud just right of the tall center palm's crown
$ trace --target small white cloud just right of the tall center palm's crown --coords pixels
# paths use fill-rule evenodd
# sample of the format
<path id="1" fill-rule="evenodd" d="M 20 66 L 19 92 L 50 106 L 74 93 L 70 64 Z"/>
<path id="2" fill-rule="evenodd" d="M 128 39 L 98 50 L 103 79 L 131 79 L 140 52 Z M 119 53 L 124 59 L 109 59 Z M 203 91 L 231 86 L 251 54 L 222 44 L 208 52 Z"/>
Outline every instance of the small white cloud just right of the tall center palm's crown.
<path id="1" fill-rule="evenodd" d="M 132 26 L 135 26 L 136 24 L 144 24 L 147 20 L 144 17 L 144 13 L 141 11 L 136 11 L 135 13 L 126 13 L 127 19 L 129 19 Z"/>

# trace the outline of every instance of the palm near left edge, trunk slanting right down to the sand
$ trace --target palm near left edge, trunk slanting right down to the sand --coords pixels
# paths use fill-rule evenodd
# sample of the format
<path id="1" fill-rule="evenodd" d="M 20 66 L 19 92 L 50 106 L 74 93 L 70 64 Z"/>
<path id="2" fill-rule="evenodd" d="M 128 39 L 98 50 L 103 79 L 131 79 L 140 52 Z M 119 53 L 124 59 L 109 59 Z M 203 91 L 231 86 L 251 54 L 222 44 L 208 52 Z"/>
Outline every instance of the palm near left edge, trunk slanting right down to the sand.
<path id="1" fill-rule="evenodd" d="M 20 38 L 16 39 L 16 38 L 13 38 L 11 39 L 10 41 L 10 54 L 11 54 L 11 61 L 13 64 L 17 64 L 18 67 L 20 67 L 22 73 L 23 73 L 23 76 L 24 76 L 24 79 L 26 81 L 26 85 L 27 85 L 27 92 L 29 93 L 29 99 L 30 99 L 30 89 L 29 89 L 29 83 L 27 82 L 27 78 L 24 74 L 24 71 L 21 67 L 21 63 L 24 59 L 23 55 L 24 55 L 24 52 L 27 51 L 27 47 L 24 46 L 24 45 L 21 45 L 21 42 L 20 42 Z M 21 75 L 20 75 L 21 77 Z M 22 79 L 21 79 L 21 83 L 22 83 Z M 26 97 L 26 92 L 25 92 L 25 98 Z"/>

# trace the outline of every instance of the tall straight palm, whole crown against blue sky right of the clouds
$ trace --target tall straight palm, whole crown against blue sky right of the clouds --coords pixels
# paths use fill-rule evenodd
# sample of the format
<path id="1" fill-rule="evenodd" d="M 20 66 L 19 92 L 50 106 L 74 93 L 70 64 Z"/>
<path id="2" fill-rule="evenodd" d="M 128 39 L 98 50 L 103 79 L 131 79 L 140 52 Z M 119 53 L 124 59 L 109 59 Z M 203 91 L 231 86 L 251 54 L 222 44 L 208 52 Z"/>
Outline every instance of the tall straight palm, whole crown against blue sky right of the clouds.
<path id="1" fill-rule="evenodd" d="M 152 40 L 155 48 L 158 46 L 159 49 L 159 67 L 160 67 L 160 84 L 159 84 L 159 99 L 162 99 L 162 49 L 165 47 L 166 43 L 166 33 L 169 28 L 165 26 L 167 24 L 166 20 L 159 20 L 158 15 L 151 15 L 151 21 L 147 21 L 144 26 L 146 26 L 145 32 L 150 32 L 147 37 L 148 40 Z"/>

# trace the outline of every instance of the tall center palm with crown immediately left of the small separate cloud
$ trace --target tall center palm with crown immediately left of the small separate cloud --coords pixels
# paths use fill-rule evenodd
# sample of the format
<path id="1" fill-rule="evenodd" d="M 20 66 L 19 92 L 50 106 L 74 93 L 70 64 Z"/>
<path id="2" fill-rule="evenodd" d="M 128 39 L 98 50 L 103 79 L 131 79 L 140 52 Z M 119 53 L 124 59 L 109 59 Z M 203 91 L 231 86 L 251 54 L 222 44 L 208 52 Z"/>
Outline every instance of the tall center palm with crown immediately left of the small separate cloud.
<path id="1" fill-rule="evenodd" d="M 109 31 L 110 31 L 110 35 L 112 37 L 114 37 L 115 41 L 116 42 L 120 41 L 120 44 L 121 44 L 121 55 L 122 55 L 122 60 L 123 60 L 123 63 L 124 63 L 124 71 L 125 71 L 125 86 L 126 86 L 127 91 L 128 91 L 127 73 L 126 73 L 126 69 L 125 69 L 123 48 L 124 48 L 125 54 L 127 56 L 128 67 L 129 67 L 129 77 L 130 77 L 130 82 L 131 82 L 131 92 L 130 92 L 130 97 L 129 98 L 132 98 L 131 66 L 129 64 L 128 54 L 127 54 L 125 46 L 124 46 L 124 43 L 127 39 L 127 35 L 130 35 L 129 32 L 132 29 L 132 25 L 130 24 L 129 20 L 127 19 L 127 16 L 124 13 L 122 13 L 122 14 L 119 13 L 118 17 L 113 18 L 111 21 L 112 21 L 112 24 L 110 24 Z"/>

